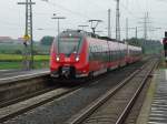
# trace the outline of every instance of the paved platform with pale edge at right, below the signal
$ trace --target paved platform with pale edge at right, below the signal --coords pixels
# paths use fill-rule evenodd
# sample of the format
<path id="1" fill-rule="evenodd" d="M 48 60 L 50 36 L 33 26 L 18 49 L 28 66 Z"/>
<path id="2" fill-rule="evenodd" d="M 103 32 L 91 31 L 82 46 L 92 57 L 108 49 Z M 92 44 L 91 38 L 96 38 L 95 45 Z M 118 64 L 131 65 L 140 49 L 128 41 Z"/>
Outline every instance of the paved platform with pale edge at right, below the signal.
<path id="1" fill-rule="evenodd" d="M 167 124 L 167 69 L 159 69 L 153 74 L 136 124 Z"/>

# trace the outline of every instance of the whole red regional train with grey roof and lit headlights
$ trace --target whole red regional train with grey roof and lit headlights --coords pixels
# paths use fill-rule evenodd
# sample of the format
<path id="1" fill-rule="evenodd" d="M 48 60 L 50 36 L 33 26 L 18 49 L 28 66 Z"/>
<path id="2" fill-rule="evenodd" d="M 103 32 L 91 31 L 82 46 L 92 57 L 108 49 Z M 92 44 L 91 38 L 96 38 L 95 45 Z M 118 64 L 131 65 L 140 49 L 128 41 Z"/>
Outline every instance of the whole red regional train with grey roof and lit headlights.
<path id="1" fill-rule="evenodd" d="M 79 79 L 96 76 L 141 58 L 141 48 L 79 30 L 61 32 L 50 53 L 51 76 Z"/>

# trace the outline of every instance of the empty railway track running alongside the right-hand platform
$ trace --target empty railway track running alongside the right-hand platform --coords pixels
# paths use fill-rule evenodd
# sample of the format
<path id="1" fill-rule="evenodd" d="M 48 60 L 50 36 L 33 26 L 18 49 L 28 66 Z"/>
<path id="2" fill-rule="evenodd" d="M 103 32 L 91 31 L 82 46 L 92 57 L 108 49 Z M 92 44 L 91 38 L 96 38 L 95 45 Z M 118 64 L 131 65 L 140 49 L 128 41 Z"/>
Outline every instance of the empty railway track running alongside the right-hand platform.
<path id="1" fill-rule="evenodd" d="M 146 63 L 66 124 L 122 124 L 157 63 L 158 60 Z"/>

